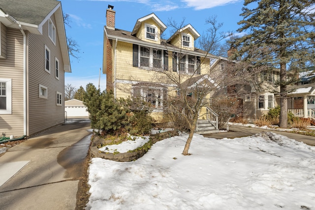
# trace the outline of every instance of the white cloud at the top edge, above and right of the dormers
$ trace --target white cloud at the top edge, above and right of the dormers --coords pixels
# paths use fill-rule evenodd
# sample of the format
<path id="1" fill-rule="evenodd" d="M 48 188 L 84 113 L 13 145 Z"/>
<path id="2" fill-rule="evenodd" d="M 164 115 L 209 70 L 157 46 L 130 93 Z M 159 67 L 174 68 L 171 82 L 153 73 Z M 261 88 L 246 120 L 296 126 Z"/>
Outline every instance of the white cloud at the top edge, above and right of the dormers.
<path id="1" fill-rule="evenodd" d="M 223 6 L 229 3 L 235 3 L 240 0 L 182 0 L 187 3 L 188 7 L 193 7 L 195 10 L 209 9 L 216 6 Z"/>

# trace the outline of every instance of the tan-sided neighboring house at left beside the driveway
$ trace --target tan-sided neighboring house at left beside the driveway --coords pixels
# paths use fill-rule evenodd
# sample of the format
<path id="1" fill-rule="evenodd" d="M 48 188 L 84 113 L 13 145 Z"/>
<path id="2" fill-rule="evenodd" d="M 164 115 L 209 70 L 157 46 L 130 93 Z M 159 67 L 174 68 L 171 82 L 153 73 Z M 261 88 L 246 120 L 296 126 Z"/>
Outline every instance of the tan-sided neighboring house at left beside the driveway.
<path id="1" fill-rule="evenodd" d="M 0 132 L 31 136 L 63 123 L 64 72 L 61 2 L 1 0 Z"/>

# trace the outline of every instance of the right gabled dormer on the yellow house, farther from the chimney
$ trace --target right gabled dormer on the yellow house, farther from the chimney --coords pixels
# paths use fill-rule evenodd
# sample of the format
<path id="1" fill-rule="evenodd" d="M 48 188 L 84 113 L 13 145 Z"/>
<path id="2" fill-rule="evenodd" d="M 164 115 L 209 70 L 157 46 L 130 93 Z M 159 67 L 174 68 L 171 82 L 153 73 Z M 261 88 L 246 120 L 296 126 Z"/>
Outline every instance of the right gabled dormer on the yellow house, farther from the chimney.
<path id="1" fill-rule="evenodd" d="M 170 44 L 187 50 L 194 49 L 194 41 L 200 37 L 200 34 L 190 25 L 177 30 L 168 40 Z"/>

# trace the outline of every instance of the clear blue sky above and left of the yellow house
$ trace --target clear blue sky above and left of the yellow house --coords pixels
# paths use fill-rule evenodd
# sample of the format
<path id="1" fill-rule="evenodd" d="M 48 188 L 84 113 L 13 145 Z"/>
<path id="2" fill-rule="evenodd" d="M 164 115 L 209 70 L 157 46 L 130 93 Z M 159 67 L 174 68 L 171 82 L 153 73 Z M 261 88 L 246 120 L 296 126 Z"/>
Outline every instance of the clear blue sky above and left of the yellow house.
<path id="1" fill-rule="evenodd" d="M 66 26 L 66 35 L 74 39 L 80 48 L 79 59 L 70 57 L 72 73 L 65 73 L 65 84 L 84 89 L 88 83 L 98 87 L 99 69 L 102 67 L 103 28 L 106 25 L 108 4 L 116 11 L 115 28 L 131 31 L 137 21 L 151 13 L 167 26 L 168 20 L 178 23 L 185 18 L 185 25 L 200 34 L 210 27 L 205 19 L 216 15 L 223 23 L 222 31 L 239 28 L 243 0 L 61 0 L 63 13 L 70 16 L 71 28 Z M 171 27 L 164 31 L 170 37 Z M 106 75 L 101 73 L 100 89 L 106 89 Z"/>

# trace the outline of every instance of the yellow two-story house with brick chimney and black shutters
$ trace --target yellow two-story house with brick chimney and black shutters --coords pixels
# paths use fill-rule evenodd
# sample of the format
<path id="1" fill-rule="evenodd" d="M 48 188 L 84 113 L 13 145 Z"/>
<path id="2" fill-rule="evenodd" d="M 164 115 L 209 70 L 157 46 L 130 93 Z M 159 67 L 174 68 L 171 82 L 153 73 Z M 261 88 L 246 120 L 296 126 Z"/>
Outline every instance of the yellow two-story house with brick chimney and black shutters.
<path id="1" fill-rule="evenodd" d="M 194 46 L 200 34 L 190 24 L 163 39 L 167 27 L 154 13 L 139 18 L 132 31 L 116 29 L 115 15 L 108 5 L 103 45 L 106 89 L 115 98 L 140 94 L 156 108 L 153 116 L 161 120 L 162 100 L 155 98 L 176 94 L 175 82 L 165 75 L 180 73 L 183 83 L 201 78 L 218 58 Z"/>

